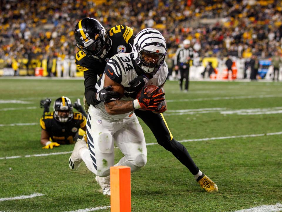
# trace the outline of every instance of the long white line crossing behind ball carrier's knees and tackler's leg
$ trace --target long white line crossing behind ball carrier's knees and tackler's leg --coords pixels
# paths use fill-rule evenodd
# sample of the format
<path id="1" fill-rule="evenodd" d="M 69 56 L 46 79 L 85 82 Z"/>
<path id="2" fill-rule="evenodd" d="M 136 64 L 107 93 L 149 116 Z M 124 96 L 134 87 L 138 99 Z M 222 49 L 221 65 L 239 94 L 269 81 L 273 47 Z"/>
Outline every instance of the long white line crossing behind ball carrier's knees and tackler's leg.
<path id="1" fill-rule="evenodd" d="M 252 134 L 252 135 L 234 135 L 234 136 L 225 136 L 225 137 L 213 137 L 213 138 L 197 138 L 197 139 L 187 139 L 187 140 L 180 140 L 178 142 L 192 142 L 192 141 L 207 141 L 207 140 L 222 140 L 222 139 L 232 139 L 232 138 L 247 138 L 247 137 L 259 137 L 259 136 L 270 136 L 270 135 L 281 135 L 281 132 L 270 132 L 270 133 L 261 133 L 261 134 Z M 156 145 L 158 143 L 147 143 L 146 146 L 149 145 Z M 14 158 L 29 158 L 29 157 L 41 157 L 41 156 L 49 156 L 49 155 L 63 155 L 69 154 L 72 151 L 68 152 L 57 152 L 57 153 L 46 153 L 46 154 L 35 154 L 35 155 L 25 155 L 25 156 L 9 156 L 0 158 L 0 160 L 4 159 L 14 159 Z"/>

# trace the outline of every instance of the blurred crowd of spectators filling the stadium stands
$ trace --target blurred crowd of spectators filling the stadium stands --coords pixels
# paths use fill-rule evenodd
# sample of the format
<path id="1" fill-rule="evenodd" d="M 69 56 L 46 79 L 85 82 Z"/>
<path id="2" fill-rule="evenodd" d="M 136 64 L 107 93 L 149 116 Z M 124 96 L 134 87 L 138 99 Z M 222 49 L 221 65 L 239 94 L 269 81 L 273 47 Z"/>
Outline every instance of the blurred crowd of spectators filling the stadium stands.
<path id="1" fill-rule="evenodd" d="M 173 57 L 184 39 L 200 57 L 281 54 L 282 4 L 265 0 L 2 0 L 0 59 L 75 55 L 73 30 L 85 17 L 106 29 L 159 29 Z"/>

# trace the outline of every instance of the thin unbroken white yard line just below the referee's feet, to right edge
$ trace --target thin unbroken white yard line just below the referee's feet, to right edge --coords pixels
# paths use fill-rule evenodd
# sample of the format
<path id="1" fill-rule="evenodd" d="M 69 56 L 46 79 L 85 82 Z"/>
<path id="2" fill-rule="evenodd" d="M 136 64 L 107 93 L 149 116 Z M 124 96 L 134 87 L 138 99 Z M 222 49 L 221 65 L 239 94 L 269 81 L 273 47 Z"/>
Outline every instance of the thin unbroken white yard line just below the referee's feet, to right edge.
<path id="1" fill-rule="evenodd" d="M 167 102 L 194 102 L 194 101 L 208 101 L 208 100 L 254 99 L 254 98 L 271 98 L 271 97 L 282 97 L 282 95 L 257 95 L 257 96 L 254 95 L 254 96 L 212 97 L 212 98 L 166 100 L 166 101 Z"/>

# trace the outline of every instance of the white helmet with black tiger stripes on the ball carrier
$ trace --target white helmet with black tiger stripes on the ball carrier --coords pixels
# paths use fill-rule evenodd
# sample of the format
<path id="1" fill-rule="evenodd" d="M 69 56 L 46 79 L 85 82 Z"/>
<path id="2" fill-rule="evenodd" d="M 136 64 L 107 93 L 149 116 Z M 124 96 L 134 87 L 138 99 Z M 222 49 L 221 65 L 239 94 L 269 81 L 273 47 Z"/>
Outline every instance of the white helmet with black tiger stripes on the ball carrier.
<path id="1" fill-rule="evenodd" d="M 144 71 L 154 75 L 164 63 L 167 46 L 162 34 L 156 29 L 143 29 L 135 37 L 133 54 L 136 64 Z M 150 57 L 146 59 L 146 57 Z"/>

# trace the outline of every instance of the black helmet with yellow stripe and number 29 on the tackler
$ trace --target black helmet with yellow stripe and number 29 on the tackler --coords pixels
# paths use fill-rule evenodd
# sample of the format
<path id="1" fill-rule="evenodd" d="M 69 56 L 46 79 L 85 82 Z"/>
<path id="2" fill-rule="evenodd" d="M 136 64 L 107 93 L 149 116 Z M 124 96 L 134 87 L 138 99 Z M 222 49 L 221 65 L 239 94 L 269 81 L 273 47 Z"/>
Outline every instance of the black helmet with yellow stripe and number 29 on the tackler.
<path id="1" fill-rule="evenodd" d="M 86 55 L 103 59 L 111 47 L 105 28 L 93 18 L 84 18 L 75 26 L 76 46 Z"/>

